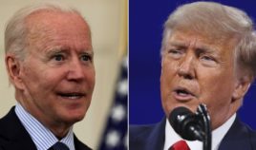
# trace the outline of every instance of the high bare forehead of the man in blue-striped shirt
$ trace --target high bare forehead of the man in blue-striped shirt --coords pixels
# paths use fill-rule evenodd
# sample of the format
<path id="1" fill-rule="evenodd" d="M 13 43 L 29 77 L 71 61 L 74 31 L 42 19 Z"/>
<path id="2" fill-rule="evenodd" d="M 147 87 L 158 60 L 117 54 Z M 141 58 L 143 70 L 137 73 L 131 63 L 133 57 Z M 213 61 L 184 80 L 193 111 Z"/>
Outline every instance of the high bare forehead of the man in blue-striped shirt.
<path id="1" fill-rule="evenodd" d="M 71 21 L 73 21 L 72 24 Z M 31 47 L 45 49 L 61 46 L 92 49 L 90 28 L 79 14 L 39 10 L 27 18 L 26 24 L 27 42 Z M 76 37 L 83 40 L 79 39 L 81 42 L 77 43 Z"/>

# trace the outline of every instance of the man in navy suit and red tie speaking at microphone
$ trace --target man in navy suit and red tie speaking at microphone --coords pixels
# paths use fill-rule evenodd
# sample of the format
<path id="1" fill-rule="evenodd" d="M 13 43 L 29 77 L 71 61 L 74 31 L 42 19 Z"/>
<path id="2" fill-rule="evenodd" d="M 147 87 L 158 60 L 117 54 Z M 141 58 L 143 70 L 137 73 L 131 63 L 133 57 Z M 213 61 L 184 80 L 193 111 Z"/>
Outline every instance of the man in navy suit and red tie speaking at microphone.
<path id="1" fill-rule="evenodd" d="M 130 149 L 179 150 L 179 145 L 203 150 L 201 141 L 182 140 L 166 118 L 178 106 L 195 112 L 205 103 L 212 150 L 256 150 L 256 132 L 236 115 L 256 75 L 253 27 L 244 11 L 218 3 L 176 9 L 165 22 L 161 46 L 160 95 L 166 117 L 158 124 L 131 125 Z"/>

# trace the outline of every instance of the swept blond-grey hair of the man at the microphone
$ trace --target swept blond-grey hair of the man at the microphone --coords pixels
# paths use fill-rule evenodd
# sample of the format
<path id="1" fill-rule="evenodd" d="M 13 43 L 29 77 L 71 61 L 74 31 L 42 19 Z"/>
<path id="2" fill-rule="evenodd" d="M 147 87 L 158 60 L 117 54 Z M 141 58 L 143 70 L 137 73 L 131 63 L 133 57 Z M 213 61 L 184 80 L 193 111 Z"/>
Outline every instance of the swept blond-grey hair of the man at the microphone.
<path id="1" fill-rule="evenodd" d="M 256 76 L 256 34 L 252 20 L 241 10 L 215 2 L 195 2 L 176 9 L 164 24 L 161 55 L 172 32 L 190 29 L 213 40 L 234 39 L 235 62 L 249 76 Z"/>

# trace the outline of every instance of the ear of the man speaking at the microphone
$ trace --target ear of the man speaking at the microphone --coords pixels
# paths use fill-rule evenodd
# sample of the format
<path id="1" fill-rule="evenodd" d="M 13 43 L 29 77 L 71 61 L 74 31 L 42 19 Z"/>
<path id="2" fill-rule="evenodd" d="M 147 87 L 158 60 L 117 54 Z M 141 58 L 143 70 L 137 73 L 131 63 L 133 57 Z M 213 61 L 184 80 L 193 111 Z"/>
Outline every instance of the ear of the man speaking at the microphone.
<path id="1" fill-rule="evenodd" d="M 233 102 L 236 100 L 241 100 L 245 96 L 245 93 L 249 89 L 252 80 L 248 75 L 245 75 L 238 79 L 237 83 L 235 84 L 235 90 L 232 94 Z"/>

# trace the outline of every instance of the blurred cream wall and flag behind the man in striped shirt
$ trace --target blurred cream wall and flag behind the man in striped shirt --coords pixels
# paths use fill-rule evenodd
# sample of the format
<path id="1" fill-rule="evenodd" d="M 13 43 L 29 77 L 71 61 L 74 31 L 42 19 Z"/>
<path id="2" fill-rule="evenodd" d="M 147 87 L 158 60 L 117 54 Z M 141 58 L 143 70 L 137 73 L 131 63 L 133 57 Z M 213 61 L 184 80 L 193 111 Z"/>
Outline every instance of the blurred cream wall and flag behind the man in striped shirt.
<path id="1" fill-rule="evenodd" d="M 16 103 L 4 63 L 4 29 L 17 9 L 39 1 L 0 0 L 0 118 Z M 127 146 L 127 72 L 125 67 L 121 71 L 121 64 L 124 62 L 127 66 L 123 59 L 127 50 L 127 1 L 58 1 L 75 7 L 86 18 L 92 29 L 95 50 L 93 101 L 85 119 L 75 124 L 75 135 L 93 149 L 124 149 Z"/>

